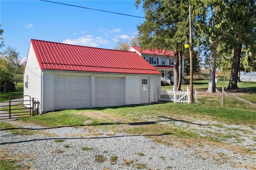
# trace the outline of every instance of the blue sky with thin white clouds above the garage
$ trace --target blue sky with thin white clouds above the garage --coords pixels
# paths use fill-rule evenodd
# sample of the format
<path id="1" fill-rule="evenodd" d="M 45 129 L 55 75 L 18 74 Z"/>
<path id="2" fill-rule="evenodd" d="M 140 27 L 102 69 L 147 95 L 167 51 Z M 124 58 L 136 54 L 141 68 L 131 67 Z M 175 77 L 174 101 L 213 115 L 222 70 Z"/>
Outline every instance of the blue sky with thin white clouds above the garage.
<path id="1" fill-rule="evenodd" d="M 134 0 L 64 0 L 55 2 L 144 17 Z M 26 58 L 30 39 L 114 49 L 116 40 L 130 43 L 142 18 L 111 14 L 40 0 L 1 0 L 4 49 L 16 48 Z M 2 51 L 2 50 L 1 50 Z"/>

